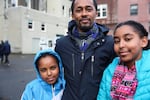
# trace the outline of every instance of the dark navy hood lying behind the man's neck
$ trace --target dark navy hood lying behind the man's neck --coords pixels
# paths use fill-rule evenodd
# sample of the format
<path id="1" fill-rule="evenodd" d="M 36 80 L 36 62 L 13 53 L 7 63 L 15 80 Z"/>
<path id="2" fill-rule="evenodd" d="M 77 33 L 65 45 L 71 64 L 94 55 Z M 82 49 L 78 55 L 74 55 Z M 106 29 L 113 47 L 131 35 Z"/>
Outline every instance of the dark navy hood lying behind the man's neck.
<path id="1" fill-rule="evenodd" d="M 104 33 L 104 34 L 107 34 L 109 32 L 109 28 L 107 28 L 106 26 L 102 25 L 102 24 L 98 24 L 96 23 L 99 30 Z M 75 20 L 71 20 L 69 23 L 68 23 L 68 34 L 71 34 L 72 32 L 72 29 L 73 27 L 76 26 L 76 22 Z"/>

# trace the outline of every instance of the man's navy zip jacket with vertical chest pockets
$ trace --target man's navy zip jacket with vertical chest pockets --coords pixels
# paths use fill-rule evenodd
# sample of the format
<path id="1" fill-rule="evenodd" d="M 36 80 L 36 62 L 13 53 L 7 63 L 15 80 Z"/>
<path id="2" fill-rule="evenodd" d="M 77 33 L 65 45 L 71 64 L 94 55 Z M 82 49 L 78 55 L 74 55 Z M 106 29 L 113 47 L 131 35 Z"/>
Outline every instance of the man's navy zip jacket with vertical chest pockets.
<path id="1" fill-rule="evenodd" d="M 57 40 L 55 50 L 62 58 L 66 89 L 62 100 L 96 100 L 102 74 L 114 58 L 113 38 L 108 28 L 98 25 L 99 35 L 81 52 L 69 26 L 68 35 Z"/>

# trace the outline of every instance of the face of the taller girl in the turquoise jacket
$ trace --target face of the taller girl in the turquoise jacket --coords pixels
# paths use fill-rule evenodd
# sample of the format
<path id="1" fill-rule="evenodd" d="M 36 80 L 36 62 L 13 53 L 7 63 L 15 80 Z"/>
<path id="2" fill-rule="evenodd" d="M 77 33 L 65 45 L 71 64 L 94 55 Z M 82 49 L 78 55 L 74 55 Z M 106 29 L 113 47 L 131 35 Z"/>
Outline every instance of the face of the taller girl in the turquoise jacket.
<path id="1" fill-rule="evenodd" d="M 141 58 L 145 45 L 145 38 L 141 38 L 132 26 L 123 25 L 114 33 L 114 50 L 128 67 Z"/>

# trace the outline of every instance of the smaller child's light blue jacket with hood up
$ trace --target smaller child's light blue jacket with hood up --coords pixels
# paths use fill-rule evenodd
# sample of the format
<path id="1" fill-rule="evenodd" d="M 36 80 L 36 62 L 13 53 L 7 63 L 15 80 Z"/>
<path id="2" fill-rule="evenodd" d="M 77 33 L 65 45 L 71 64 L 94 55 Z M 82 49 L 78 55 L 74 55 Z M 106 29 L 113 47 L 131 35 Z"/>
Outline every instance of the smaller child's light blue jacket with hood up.
<path id="1" fill-rule="evenodd" d="M 54 87 L 42 80 L 36 68 L 35 62 L 43 53 L 52 54 L 59 60 L 59 78 Z M 60 56 L 55 51 L 50 49 L 39 51 L 34 58 L 34 68 L 36 70 L 37 78 L 27 84 L 21 100 L 61 100 L 61 96 L 65 88 L 65 80 Z"/>

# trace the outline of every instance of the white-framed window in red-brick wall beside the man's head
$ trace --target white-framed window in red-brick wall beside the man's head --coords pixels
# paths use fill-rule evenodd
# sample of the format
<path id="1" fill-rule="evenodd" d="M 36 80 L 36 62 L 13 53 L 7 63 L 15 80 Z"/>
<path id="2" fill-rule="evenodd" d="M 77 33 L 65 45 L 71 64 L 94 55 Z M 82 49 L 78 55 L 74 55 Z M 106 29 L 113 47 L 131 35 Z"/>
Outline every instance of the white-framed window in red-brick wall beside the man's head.
<path id="1" fill-rule="evenodd" d="M 100 4 L 97 6 L 97 18 L 107 18 L 107 4 Z"/>

